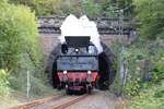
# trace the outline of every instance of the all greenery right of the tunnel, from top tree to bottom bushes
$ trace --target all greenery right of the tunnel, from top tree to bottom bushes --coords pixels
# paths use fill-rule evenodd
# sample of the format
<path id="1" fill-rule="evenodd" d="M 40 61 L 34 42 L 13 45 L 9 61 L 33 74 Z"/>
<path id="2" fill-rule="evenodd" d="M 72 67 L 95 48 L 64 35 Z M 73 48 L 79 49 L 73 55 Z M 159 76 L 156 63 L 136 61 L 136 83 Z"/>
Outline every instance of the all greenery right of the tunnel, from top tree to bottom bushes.
<path id="1" fill-rule="evenodd" d="M 117 80 L 110 86 L 117 95 L 131 99 L 127 109 L 164 108 L 164 24 L 161 0 L 134 0 L 140 33 L 132 45 L 118 41 Z M 118 45 L 119 44 L 119 45 Z M 118 80 L 119 78 L 119 80 Z"/>

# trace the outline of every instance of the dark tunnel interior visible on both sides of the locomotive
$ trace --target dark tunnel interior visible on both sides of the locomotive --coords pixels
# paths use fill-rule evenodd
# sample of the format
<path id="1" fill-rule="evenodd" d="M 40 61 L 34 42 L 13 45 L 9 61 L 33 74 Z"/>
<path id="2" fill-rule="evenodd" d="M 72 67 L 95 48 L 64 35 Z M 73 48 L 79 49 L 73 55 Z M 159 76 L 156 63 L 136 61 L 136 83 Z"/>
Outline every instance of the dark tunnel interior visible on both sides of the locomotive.
<path id="1" fill-rule="evenodd" d="M 98 56 L 98 64 L 99 64 L 99 76 L 98 76 L 98 88 L 106 89 L 114 81 L 115 71 L 112 70 L 112 65 L 114 63 L 114 53 L 112 50 L 102 43 L 103 52 Z M 50 53 L 48 65 L 46 72 L 48 74 L 48 78 L 50 80 L 51 85 L 57 88 L 59 85 L 59 77 L 57 75 L 57 63 L 56 60 L 59 56 L 61 45 L 59 44 Z"/>

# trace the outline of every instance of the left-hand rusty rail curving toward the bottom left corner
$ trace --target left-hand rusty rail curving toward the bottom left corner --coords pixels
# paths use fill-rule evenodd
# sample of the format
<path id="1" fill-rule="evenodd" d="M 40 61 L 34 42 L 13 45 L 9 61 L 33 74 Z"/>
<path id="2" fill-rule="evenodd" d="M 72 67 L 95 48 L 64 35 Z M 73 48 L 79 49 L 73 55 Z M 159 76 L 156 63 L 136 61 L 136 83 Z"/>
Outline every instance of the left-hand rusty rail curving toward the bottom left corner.
<path id="1" fill-rule="evenodd" d="M 27 104 L 24 104 L 24 105 L 11 107 L 9 109 L 28 109 L 28 108 L 35 107 L 37 105 L 42 105 L 42 104 L 45 104 L 45 102 L 50 102 L 52 100 L 62 98 L 63 96 L 65 95 L 52 96 L 52 97 L 48 97 L 48 98 L 43 98 L 43 99 L 34 100 L 34 101 L 31 101 L 31 102 L 27 102 Z"/>

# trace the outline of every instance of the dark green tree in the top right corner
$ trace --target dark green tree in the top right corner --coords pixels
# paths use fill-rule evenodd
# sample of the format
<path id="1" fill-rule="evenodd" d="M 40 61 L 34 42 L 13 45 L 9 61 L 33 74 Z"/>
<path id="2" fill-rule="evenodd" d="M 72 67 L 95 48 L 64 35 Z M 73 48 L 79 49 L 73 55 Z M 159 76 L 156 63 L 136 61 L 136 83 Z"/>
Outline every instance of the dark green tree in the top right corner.
<path id="1" fill-rule="evenodd" d="M 139 32 L 142 38 L 155 39 L 164 32 L 163 4 L 163 0 L 134 0 L 137 19 L 141 22 Z"/>

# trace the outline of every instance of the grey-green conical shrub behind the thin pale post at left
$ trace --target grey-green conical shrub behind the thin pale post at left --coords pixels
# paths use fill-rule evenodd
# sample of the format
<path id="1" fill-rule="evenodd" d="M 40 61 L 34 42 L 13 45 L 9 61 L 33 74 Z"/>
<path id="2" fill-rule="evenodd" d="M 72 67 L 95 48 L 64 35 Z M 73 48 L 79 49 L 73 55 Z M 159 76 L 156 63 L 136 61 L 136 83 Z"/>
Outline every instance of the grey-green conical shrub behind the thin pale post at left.
<path id="1" fill-rule="evenodd" d="M 27 82 L 27 71 L 30 72 L 30 80 L 32 84 L 32 92 L 31 94 L 43 94 L 45 93 L 48 87 L 44 84 L 46 81 L 46 75 L 44 72 L 38 71 L 35 66 L 35 63 L 28 57 L 28 53 L 24 53 L 20 56 L 20 66 L 19 71 L 15 71 L 12 75 L 16 78 L 10 81 L 10 86 L 16 90 L 26 92 L 26 82 Z M 39 65 L 39 64 L 38 64 Z M 37 92 L 37 93 L 36 93 Z"/>

